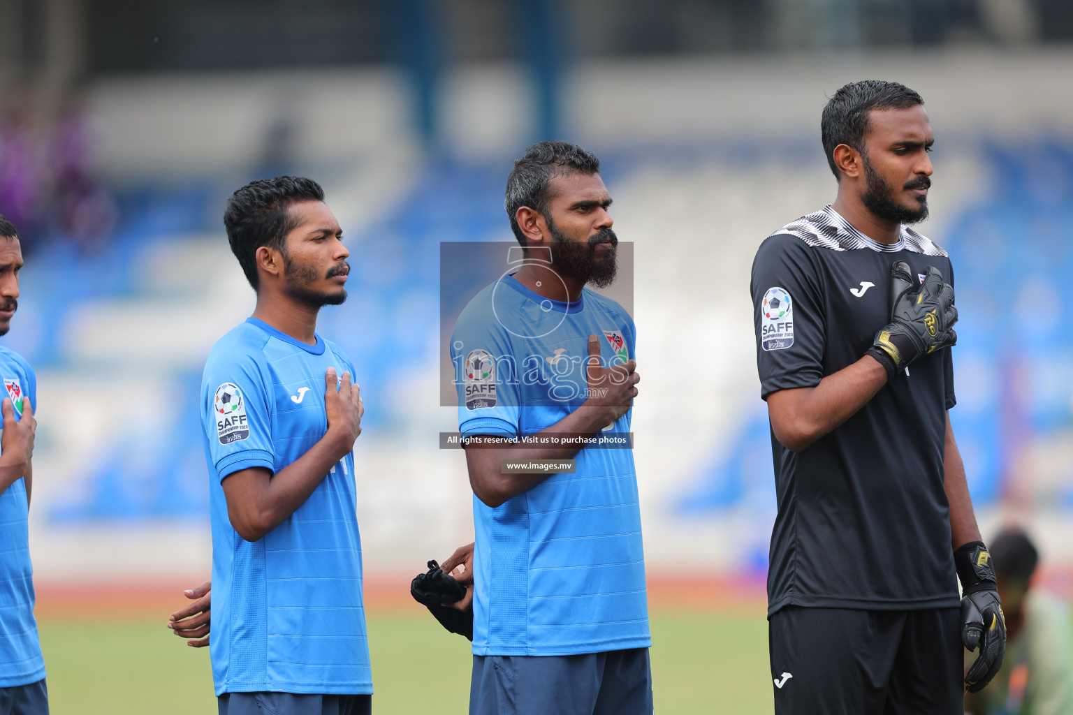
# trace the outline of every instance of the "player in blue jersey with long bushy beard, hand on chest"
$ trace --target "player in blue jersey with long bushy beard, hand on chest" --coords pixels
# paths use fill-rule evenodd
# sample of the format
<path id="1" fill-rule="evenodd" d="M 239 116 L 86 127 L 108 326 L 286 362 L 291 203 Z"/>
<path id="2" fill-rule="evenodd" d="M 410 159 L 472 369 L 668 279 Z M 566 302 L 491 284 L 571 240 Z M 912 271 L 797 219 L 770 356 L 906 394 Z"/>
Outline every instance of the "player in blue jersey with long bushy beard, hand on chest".
<path id="1" fill-rule="evenodd" d="M 451 338 L 475 542 L 444 571 L 474 581 L 472 715 L 652 712 L 633 451 L 600 446 L 630 431 L 634 326 L 585 287 L 615 278 L 611 203 L 591 152 L 527 149 L 505 200 L 525 259 Z"/>

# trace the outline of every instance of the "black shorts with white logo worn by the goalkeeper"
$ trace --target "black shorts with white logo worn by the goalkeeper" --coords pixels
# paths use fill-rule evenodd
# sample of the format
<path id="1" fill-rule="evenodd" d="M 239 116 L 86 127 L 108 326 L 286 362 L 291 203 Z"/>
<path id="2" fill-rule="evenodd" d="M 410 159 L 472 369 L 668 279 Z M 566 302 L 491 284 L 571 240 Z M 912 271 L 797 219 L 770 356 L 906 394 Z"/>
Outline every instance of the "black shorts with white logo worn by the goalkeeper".
<path id="1" fill-rule="evenodd" d="M 768 620 L 776 715 L 964 715 L 960 613 L 776 611 Z"/>

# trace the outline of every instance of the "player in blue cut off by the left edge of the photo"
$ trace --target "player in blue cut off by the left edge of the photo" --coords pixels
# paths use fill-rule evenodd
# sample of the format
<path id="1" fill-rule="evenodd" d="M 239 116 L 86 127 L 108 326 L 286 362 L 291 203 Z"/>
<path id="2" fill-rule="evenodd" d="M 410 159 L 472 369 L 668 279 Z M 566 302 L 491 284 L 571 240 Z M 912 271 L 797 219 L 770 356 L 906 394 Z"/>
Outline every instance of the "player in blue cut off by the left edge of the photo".
<path id="1" fill-rule="evenodd" d="M 18 234 L 0 215 L 0 336 L 18 309 Z M 0 346 L 3 373 L 3 435 L 0 437 L 0 711 L 47 715 L 48 688 L 33 617 L 33 566 L 27 516 L 33 478 L 38 378 L 21 355 Z"/>

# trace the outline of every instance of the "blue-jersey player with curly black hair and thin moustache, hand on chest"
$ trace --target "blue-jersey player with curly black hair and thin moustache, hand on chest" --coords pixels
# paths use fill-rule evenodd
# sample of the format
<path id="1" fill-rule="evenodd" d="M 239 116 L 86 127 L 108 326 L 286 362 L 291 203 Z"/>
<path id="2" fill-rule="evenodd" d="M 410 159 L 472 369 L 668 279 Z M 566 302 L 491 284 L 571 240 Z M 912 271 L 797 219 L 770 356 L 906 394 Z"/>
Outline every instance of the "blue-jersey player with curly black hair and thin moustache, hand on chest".
<path id="1" fill-rule="evenodd" d="M 350 253 L 310 179 L 253 181 L 223 221 L 258 302 L 202 381 L 219 712 L 369 713 L 351 455 L 364 407 L 350 360 L 315 332 L 321 307 L 347 299 Z M 187 592 L 203 617 L 173 615 L 177 634 L 207 632 L 208 589 Z"/>

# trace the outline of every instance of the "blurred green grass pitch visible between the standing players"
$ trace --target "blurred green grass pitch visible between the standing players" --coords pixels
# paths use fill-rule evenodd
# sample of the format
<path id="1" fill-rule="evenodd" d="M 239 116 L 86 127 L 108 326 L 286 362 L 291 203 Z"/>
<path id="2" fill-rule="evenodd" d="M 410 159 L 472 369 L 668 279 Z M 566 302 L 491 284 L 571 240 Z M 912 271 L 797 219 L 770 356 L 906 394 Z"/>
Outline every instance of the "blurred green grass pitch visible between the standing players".
<path id="1" fill-rule="evenodd" d="M 208 651 L 187 647 L 160 617 L 39 621 L 53 715 L 216 713 Z M 657 713 L 771 712 L 763 612 L 653 610 Z M 424 611 L 370 612 L 377 715 L 466 713 L 468 643 Z"/>

